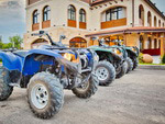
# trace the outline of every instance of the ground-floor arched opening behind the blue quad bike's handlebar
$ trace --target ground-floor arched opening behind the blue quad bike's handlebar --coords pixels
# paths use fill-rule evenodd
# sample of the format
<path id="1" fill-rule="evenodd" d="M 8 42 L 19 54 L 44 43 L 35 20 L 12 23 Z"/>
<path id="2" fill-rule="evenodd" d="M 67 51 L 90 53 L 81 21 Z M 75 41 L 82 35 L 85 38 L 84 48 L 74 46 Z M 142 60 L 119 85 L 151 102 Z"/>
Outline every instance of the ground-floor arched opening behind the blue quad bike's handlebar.
<path id="1" fill-rule="evenodd" d="M 46 45 L 46 44 L 48 44 L 48 42 L 46 40 L 44 40 L 44 38 L 37 38 L 36 41 L 34 41 L 31 44 L 31 48 L 34 49 L 34 48 L 37 48 L 41 45 Z"/>

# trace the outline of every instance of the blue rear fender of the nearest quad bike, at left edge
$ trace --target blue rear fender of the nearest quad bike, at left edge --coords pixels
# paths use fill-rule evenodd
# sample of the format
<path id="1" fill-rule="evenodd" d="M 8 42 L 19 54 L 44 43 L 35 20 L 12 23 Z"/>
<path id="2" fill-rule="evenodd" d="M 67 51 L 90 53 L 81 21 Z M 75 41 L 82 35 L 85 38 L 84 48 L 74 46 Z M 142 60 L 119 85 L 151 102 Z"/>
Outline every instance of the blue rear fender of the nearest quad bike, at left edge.
<path id="1" fill-rule="evenodd" d="M 22 58 L 14 55 L 13 53 L 0 52 L 0 58 L 2 59 L 2 65 L 9 70 L 19 70 L 22 68 Z"/>

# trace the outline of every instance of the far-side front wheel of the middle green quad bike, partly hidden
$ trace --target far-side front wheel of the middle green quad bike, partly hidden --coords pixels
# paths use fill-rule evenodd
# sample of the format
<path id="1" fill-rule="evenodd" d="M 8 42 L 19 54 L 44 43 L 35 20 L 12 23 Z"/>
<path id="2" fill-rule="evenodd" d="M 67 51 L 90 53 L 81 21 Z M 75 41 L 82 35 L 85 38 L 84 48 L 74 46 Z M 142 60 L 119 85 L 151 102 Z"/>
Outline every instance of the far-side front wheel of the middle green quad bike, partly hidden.
<path id="1" fill-rule="evenodd" d="M 123 65 L 117 69 L 116 78 L 119 79 L 119 78 L 123 77 L 127 72 L 127 68 L 128 68 L 128 65 L 127 65 L 127 61 L 124 61 Z"/>

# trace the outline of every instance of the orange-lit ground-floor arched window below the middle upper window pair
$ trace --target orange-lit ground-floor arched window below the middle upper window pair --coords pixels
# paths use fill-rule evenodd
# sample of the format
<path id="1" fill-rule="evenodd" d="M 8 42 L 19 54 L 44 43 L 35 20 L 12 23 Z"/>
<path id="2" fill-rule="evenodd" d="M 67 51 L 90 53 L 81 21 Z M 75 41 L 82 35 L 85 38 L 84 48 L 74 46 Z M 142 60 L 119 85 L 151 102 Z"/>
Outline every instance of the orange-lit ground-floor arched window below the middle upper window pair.
<path id="1" fill-rule="evenodd" d="M 87 47 L 87 41 L 82 37 L 74 37 L 70 40 L 69 46 L 76 48 L 85 48 Z"/>

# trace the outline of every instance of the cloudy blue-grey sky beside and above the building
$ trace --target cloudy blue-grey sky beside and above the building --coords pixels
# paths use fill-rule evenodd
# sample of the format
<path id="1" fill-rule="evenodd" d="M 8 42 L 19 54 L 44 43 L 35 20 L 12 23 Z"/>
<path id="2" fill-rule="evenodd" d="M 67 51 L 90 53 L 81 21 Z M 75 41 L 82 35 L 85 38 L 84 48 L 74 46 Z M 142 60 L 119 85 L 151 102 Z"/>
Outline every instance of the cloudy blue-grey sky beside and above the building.
<path id="1" fill-rule="evenodd" d="M 152 0 L 156 7 L 165 12 L 165 0 Z M 0 35 L 4 43 L 9 36 L 25 33 L 25 0 L 0 0 Z"/>

